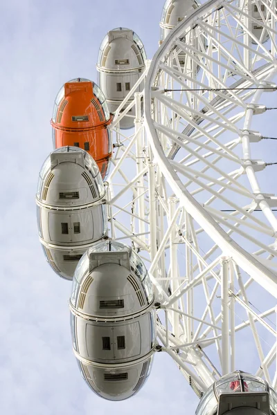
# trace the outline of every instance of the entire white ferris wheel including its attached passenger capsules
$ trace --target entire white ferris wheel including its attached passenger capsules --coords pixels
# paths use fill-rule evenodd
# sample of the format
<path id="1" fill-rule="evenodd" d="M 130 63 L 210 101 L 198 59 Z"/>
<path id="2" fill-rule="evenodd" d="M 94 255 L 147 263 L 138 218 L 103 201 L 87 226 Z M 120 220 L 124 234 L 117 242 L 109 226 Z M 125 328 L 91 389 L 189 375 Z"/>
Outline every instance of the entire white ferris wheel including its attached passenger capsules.
<path id="1" fill-rule="evenodd" d="M 205 394 L 197 413 L 277 414 L 276 19 L 275 0 L 166 1 L 152 62 L 116 28 L 100 89 L 57 94 L 39 238 L 73 279 L 73 350 L 99 396 L 134 395 L 161 352 Z"/>

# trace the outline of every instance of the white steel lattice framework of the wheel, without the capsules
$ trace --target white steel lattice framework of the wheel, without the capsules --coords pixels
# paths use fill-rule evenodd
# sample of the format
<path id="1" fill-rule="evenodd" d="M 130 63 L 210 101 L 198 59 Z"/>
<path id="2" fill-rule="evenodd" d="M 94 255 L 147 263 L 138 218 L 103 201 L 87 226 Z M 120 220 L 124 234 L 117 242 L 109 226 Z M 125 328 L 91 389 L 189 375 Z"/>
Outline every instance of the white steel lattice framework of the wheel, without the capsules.
<path id="1" fill-rule="evenodd" d="M 163 39 L 109 127 L 111 240 L 132 245 L 148 267 L 156 350 L 199 397 L 245 367 L 277 386 L 277 198 L 267 151 L 267 138 L 277 138 L 276 19 L 268 0 L 196 8 Z M 128 135 L 120 121 L 131 109 Z"/>

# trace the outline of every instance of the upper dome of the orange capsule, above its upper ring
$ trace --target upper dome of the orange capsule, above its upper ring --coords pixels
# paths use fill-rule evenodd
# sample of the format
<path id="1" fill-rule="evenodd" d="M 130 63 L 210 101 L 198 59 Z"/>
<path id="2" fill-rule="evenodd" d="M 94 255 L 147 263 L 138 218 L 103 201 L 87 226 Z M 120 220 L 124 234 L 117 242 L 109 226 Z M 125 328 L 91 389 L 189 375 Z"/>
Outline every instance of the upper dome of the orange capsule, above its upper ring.
<path id="1" fill-rule="evenodd" d="M 111 120 L 105 95 L 99 86 L 85 78 L 66 82 L 55 98 L 53 127 L 87 129 Z"/>

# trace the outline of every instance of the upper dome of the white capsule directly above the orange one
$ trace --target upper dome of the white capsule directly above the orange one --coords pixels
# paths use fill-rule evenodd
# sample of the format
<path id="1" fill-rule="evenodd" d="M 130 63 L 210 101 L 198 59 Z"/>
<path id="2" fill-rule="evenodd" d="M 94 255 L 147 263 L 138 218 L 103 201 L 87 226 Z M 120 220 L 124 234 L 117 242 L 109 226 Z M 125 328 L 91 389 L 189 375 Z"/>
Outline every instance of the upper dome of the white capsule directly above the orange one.
<path id="1" fill-rule="evenodd" d="M 132 70 L 145 66 L 143 42 L 133 30 L 115 28 L 102 40 L 97 65 L 113 71 Z"/>

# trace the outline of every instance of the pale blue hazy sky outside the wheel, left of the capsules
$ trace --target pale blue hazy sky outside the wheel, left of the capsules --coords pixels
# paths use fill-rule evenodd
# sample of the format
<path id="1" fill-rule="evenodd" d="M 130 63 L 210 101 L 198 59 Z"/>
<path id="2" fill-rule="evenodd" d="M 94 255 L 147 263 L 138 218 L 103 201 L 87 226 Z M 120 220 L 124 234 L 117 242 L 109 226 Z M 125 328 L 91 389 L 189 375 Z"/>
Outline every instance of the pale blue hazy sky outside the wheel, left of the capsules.
<path id="1" fill-rule="evenodd" d="M 71 346 L 71 283 L 46 264 L 35 192 L 53 150 L 50 119 L 62 84 L 96 80 L 108 30 L 132 28 L 151 58 L 163 0 L 10 0 L 0 4 L 0 402 L 6 415 L 193 414 L 198 398 L 166 353 L 134 398 L 111 403 L 82 380 Z"/>

